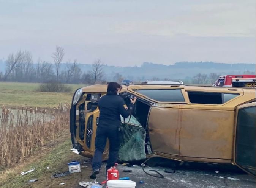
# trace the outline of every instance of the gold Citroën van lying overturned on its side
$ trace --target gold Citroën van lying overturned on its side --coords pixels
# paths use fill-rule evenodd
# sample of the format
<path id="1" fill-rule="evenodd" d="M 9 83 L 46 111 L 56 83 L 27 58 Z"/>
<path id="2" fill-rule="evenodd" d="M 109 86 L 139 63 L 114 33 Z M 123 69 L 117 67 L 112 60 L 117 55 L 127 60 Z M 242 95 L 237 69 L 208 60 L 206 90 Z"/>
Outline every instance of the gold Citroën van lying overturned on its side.
<path id="1" fill-rule="evenodd" d="M 73 147 L 92 158 L 98 101 L 107 85 L 76 91 L 70 113 Z M 255 176 L 255 89 L 185 85 L 124 86 L 120 96 L 137 97 L 122 118 L 119 160 L 232 163 Z M 108 157 L 107 144 L 104 158 Z"/>

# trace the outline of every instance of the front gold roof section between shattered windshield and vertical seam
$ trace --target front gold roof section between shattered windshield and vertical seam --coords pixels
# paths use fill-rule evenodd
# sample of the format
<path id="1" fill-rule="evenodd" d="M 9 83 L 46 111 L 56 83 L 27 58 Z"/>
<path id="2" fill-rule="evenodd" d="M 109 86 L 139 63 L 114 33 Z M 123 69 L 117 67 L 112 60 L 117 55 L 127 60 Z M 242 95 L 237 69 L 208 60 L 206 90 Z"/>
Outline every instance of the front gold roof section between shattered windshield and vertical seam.
<path id="1" fill-rule="evenodd" d="M 148 125 L 153 152 L 158 155 L 179 155 L 181 120 L 181 104 L 168 104 L 168 107 L 152 106 Z"/>

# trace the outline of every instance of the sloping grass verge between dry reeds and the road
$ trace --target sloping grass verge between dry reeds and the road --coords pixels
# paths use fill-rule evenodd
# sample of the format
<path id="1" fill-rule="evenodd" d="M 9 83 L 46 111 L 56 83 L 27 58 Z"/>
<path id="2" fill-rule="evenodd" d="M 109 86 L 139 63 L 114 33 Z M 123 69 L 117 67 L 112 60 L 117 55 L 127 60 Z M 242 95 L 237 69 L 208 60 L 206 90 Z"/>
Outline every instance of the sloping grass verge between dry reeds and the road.
<path id="1" fill-rule="evenodd" d="M 84 173 L 72 174 L 58 179 L 51 178 L 51 175 L 55 172 L 68 171 L 68 162 L 87 159 L 71 153 L 70 149 L 71 141 L 68 134 L 65 134 L 51 148 L 45 148 L 37 155 L 28 158 L 27 162 L 0 174 L 0 188 L 55 188 L 59 187 L 62 182 L 66 183 L 66 185 L 62 186 L 63 188 L 77 185 L 76 180 L 82 180 Z M 46 169 L 48 166 L 49 170 Z M 22 171 L 26 172 L 33 168 L 36 171 L 25 176 L 20 175 Z M 31 179 L 38 179 L 38 182 L 29 183 L 28 181 Z"/>

